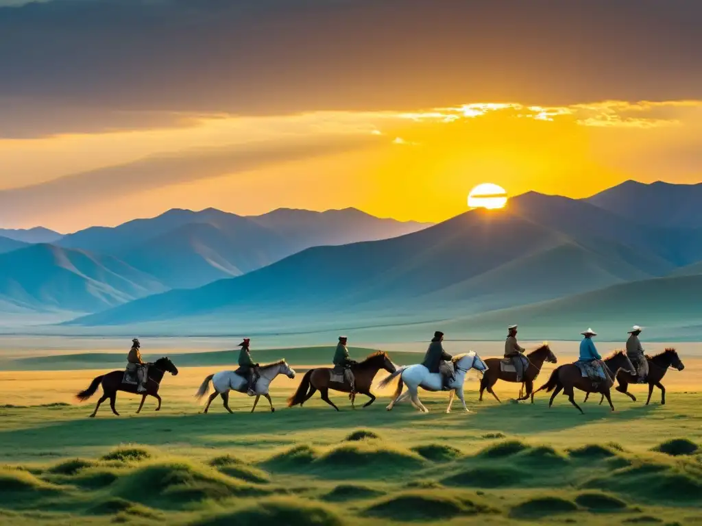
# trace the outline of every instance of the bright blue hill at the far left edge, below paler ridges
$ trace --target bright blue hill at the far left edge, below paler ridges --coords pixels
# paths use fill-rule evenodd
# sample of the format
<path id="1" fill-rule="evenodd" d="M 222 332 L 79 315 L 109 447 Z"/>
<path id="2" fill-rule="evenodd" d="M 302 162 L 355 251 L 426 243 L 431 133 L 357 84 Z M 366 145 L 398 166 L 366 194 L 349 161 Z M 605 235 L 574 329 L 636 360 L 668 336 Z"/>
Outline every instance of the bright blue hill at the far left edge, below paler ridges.
<path id="1" fill-rule="evenodd" d="M 32 311 L 95 312 L 166 290 L 110 256 L 37 244 L 0 255 L 0 301 Z"/>

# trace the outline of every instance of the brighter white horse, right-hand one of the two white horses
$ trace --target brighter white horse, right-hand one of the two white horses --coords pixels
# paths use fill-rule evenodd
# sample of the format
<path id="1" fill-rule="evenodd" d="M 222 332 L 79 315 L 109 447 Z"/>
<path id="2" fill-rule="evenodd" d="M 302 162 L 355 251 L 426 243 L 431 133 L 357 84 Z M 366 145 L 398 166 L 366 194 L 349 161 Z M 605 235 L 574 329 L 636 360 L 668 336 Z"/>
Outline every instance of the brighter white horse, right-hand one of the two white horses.
<path id="1" fill-rule="evenodd" d="M 446 412 L 451 412 L 453 397 L 456 395 L 461 399 L 463 409 L 465 409 L 466 412 L 470 412 L 468 407 L 465 406 L 465 398 L 463 398 L 463 383 L 465 382 L 465 377 L 471 369 L 485 372 L 488 370 L 487 364 L 473 351 L 458 354 L 454 356 L 451 361 L 453 362 L 455 374 L 453 375 L 453 380 L 449 384 L 451 391 L 449 393 L 449 407 L 446 407 Z M 412 405 L 421 412 L 428 413 L 429 410 L 420 402 L 417 391 L 420 387 L 425 391 L 442 391 L 441 375 L 437 372 L 429 372 L 427 367 L 421 364 L 406 365 L 404 367 L 399 367 L 392 375 L 383 379 L 379 384 L 380 387 L 388 386 L 392 379 L 397 376 L 399 376 L 399 383 L 395 391 L 395 399 L 390 402 L 390 405 L 388 405 L 386 409 L 388 411 L 392 410 L 392 407 L 395 407 L 396 403 L 411 396 Z M 402 393 L 403 383 L 407 384 L 407 391 L 405 393 Z"/>

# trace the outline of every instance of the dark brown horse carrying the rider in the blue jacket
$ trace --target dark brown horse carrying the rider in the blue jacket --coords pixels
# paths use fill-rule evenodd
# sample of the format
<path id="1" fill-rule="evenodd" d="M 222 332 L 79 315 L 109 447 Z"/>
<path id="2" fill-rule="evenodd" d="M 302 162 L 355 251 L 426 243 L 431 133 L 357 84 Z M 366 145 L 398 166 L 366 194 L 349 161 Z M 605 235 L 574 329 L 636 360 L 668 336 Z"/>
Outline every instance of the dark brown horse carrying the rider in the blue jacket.
<path id="1" fill-rule="evenodd" d="M 609 367 L 616 371 L 615 375 L 622 370 L 628 372 L 636 371 L 634 365 L 631 363 L 631 360 L 623 351 L 614 351 L 609 358 L 605 359 L 609 362 Z M 611 389 L 610 382 L 611 384 L 614 384 L 614 378 L 609 378 L 607 380 L 602 379 L 602 382 L 600 382 L 597 388 L 595 388 L 592 385 L 592 379 L 581 375 L 580 367 L 578 367 L 575 363 L 567 363 L 565 365 L 561 365 L 560 367 L 556 367 L 553 370 L 548 382 L 543 384 L 543 386 L 539 387 L 536 391 L 534 391 L 534 393 L 531 394 L 531 401 L 532 403 L 534 402 L 534 395 L 542 389 L 545 389 L 547 393 L 553 391 L 551 399 L 548 402 L 548 407 L 551 407 L 553 405 L 553 399 L 556 398 L 558 393 L 563 391 L 563 393 L 568 396 L 570 403 L 573 404 L 574 407 L 581 412 L 581 414 L 584 414 L 583 410 L 575 402 L 573 388 L 577 387 L 586 393 L 602 393 L 602 396 L 607 397 L 609 407 L 611 407 L 611 410 L 614 411 L 614 405 L 612 404 L 612 399 L 609 394 L 609 389 Z"/>

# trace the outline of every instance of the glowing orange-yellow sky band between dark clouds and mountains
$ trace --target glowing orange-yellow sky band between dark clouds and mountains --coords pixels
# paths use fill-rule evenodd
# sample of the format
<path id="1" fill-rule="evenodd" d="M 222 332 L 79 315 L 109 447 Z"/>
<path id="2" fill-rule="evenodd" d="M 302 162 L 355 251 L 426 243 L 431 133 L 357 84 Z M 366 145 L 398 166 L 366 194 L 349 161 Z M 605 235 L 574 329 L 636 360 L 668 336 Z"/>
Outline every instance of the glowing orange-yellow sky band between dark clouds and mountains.
<path id="1" fill-rule="evenodd" d="M 571 197 L 627 179 L 698 182 L 701 132 L 698 101 L 184 114 L 167 128 L 0 139 L 0 189 L 39 185 L 0 192 L 0 227 L 72 231 L 211 206 L 240 214 L 355 206 L 436 222 L 466 210 L 482 182 L 511 195 Z M 41 184 L 79 173 L 37 197 Z"/>

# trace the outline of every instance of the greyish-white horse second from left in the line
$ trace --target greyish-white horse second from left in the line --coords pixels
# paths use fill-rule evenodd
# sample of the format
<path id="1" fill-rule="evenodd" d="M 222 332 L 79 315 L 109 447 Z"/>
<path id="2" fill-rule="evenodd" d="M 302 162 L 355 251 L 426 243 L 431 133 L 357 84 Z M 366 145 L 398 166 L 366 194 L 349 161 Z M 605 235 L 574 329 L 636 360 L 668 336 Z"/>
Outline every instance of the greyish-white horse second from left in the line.
<path id="1" fill-rule="evenodd" d="M 267 365 L 261 365 L 259 367 L 258 372 L 260 373 L 260 377 L 256 381 L 256 385 L 253 386 L 253 391 L 256 392 L 256 400 L 253 400 L 253 407 L 251 407 L 251 412 L 256 410 L 256 405 L 258 404 L 258 400 L 262 395 L 265 396 L 266 400 L 268 400 L 268 403 L 270 403 L 270 412 L 275 412 L 275 408 L 273 407 L 273 401 L 270 399 L 270 394 L 268 394 L 270 384 L 278 375 L 286 375 L 286 377 L 288 378 L 294 378 L 295 371 L 283 359 L 274 363 L 269 363 Z M 205 409 L 203 411 L 204 413 L 207 412 L 213 400 L 220 395 L 222 396 L 224 408 L 230 413 L 233 413 L 233 411 L 229 407 L 229 391 L 245 393 L 246 388 L 249 385 L 249 381 L 245 377 L 237 375 L 237 373 L 234 371 L 220 371 L 214 375 L 209 375 L 203 380 L 202 384 L 200 385 L 200 388 L 195 394 L 195 397 L 198 400 L 210 391 L 210 382 L 212 382 L 212 386 L 215 388 L 215 392 L 212 393 L 210 395 L 210 398 L 207 400 L 207 405 L 205 406 Z"/>

